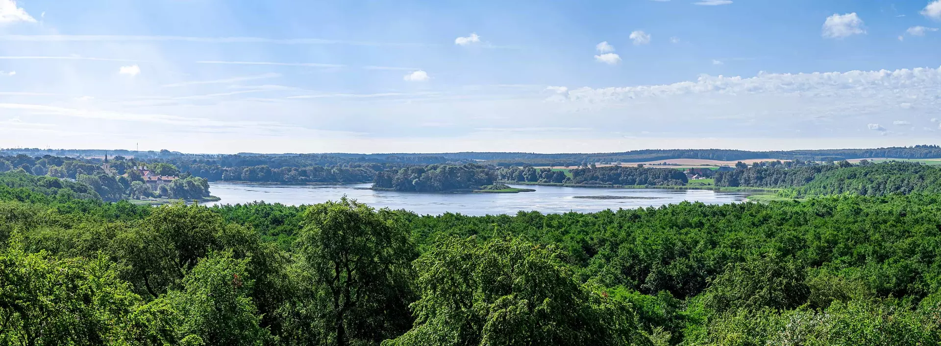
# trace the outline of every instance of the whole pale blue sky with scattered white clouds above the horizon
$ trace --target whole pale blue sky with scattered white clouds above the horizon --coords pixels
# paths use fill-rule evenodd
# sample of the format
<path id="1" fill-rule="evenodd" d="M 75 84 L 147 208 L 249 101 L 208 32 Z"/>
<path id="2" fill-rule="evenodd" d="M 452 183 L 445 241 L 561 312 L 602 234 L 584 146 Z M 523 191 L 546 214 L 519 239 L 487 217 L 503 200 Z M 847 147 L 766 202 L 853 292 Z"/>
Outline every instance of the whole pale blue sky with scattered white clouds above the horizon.
<path id="1" fill-rule="evenodd" d="M 0 0 L 0 147 L 933 144 L 939 27 L 941 0 Z"/>

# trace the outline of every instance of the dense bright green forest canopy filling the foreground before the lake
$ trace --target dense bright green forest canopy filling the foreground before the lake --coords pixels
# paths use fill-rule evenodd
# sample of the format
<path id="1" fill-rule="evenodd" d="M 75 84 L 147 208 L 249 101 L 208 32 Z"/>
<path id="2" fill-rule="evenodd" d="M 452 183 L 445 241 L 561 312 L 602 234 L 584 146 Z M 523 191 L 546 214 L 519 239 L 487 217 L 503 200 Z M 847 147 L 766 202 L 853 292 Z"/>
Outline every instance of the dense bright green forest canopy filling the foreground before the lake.
<path id="1" fill-rule="evenodd" d="M 873 167 L 848 168 L 920 174 Z M 917 191 L 422 216 L 105 203 L 8 175 L 5 344 L 941 342 L 941 196 Z"/>

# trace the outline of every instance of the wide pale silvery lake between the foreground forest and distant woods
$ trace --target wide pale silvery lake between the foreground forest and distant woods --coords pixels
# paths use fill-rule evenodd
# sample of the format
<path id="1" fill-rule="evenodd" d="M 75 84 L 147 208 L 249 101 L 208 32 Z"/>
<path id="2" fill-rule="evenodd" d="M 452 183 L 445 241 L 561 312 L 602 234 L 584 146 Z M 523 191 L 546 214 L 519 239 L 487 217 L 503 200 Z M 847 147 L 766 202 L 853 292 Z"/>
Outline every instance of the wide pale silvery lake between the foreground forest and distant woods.
<path id="1" fill-rule="evenodd" d="M 375 208 L 405 209 L 419 214 L 460 212 L 466 215 L 514 214 L 518 211 L 599 212 L 605 209 L 658 207 L 684 200 L 707 204 L 742 202 L 744 194 L 711 190 L 610 189 L 560 186 L 521 186 L 534 192 L 518 194 L 415 193 L 370 190 L 371 183 L 351 185 L 272 185 L 210 182 L 210 192 L 222 199 L 205 203 L 236 204 L 252 201 L 287 205 L 314 204 L 346 196 Z"/>

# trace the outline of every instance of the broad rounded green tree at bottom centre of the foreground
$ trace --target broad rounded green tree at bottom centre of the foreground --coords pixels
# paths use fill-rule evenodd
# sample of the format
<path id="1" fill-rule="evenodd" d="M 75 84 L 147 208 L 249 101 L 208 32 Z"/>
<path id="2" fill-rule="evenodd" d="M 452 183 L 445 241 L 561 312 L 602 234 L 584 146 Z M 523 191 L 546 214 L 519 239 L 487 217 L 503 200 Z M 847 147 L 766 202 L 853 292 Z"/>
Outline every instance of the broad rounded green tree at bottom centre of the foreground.
<path id="1" fill-rule="evenodd" d="M 627 345 L 630 305 L 577 282 L 554 247 L 455 239 L 416 260 L 417 321 L 384 346 Z"/>

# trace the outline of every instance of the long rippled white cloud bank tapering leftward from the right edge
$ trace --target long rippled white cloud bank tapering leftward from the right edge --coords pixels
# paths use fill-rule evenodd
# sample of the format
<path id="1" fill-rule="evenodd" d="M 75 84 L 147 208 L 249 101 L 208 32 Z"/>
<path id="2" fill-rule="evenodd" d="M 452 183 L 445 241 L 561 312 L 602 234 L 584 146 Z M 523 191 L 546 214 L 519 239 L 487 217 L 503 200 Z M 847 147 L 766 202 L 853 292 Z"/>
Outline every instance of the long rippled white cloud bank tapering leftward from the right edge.
<path id="1" fill-rule="evenodd" d="M 759 72 L 747 78 L 704 74 L 694 81 L 668 85 L 569 88 L 564 94 L 553 95 L 552 101 L 592 109 L 630 104 L 659 105 L 687 112 L 719 102 L 707 108 L 714 106 L 716 113 L 738 113 L 747 117 L 793 112 L 788 113 L 788 117 L 793 118 L 885 115 L 907 106 L 924 110 L 923 116 L 937 117 L 941 116 L 939 94 L 941 69 L 917 68 L 796 74 Z M 775 107 L 780 109 L 769 110 Z M 707 112 L 705 108 L 703 112 Z"/>

